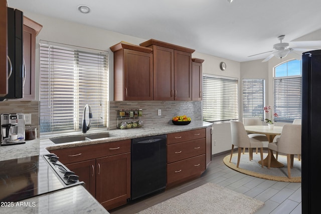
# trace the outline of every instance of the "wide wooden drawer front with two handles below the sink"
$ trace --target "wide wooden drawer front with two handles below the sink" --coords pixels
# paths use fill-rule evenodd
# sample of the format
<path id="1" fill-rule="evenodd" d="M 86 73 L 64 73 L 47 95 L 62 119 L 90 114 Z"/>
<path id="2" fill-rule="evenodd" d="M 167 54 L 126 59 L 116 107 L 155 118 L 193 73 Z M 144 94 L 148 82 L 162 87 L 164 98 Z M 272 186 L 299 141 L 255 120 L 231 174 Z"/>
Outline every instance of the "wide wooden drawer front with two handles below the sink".
<path id="1" fill-rule="evenodd" d="M 115 142 L 57 149 L 51 150 L 50 152 L 57 154 L 59 161 L 63 164 L 75 163 L 79 161 L 130 152 L 130 140 L 120 140 Z"/>

